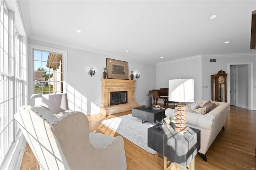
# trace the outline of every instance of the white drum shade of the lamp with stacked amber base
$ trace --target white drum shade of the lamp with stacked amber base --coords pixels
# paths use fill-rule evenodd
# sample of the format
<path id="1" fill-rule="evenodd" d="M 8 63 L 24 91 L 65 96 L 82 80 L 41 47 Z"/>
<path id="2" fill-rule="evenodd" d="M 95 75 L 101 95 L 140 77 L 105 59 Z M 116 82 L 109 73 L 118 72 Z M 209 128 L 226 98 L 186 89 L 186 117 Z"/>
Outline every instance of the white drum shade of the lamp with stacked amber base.
<path id="1" fill-rule="evenodd" d="M 169 80 L 168 100 L 173 102 L 194 102 L 194 80 Z"/>

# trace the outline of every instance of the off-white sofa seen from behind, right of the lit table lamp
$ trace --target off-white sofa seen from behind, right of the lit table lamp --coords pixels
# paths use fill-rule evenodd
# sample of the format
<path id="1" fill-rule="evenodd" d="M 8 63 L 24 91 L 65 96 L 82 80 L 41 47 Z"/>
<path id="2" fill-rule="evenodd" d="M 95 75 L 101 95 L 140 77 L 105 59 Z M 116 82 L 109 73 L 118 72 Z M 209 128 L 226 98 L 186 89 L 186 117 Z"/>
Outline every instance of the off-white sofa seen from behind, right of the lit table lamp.
<path id="1" fill-rule="evenodd" d="M 197 102 L 197 107 L 202 107 L 207 100 L 200 100 Z M 221 129 L 224 129 L 228 110 L 230 108 L 229 103 L 218 102 L 219 106 L 212 109 L 205 115 L 198 113 L 191 113 L 186 111 L 186 125 L 195 129 L 201 130 L 201 149 L 199 150 L 204 161 L 206 159 L 206 152 L 212 145 L 212 142 L 220 133 Z M 174 118 L 176 109 L 166 109 L 165 115 Z"/>

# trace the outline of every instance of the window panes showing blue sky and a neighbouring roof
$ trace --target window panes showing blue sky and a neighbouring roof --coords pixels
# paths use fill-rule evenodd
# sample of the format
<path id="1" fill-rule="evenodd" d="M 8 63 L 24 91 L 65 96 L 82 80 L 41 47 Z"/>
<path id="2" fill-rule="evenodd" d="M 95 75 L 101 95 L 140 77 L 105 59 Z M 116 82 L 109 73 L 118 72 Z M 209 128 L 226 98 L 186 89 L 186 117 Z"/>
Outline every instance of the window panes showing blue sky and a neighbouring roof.
<path id="1" fill-rule="evenodd" d="M 62 55 L 34 50 L 34 93 L 62 93 Z"/>

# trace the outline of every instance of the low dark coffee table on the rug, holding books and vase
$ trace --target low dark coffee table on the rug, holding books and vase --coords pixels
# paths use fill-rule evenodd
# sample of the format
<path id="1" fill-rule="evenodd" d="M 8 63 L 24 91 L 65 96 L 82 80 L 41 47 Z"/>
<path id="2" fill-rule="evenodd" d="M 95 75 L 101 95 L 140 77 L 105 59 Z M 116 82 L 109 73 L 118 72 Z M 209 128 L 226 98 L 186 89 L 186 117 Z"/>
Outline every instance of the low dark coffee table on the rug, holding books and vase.
<path id="1" fill-rule="evenodd" d="M 141 119 L 142 123 L 146 121 L 156 123 L 156 121 L 162 121 L 166 115 L 164 114 L 166 109 L 146 109 L 146 107 L 135 107 L 132 108 L 132 116 Z"/>

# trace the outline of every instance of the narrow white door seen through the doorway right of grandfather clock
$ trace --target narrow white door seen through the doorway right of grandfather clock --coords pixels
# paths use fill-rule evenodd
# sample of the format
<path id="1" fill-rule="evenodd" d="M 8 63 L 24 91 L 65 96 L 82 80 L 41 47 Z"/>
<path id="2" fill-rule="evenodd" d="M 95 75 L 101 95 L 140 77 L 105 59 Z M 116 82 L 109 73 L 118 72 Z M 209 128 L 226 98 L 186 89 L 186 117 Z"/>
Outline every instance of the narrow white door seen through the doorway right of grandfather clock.
<path id="1" fill-rule="evenodd" d="M 230 105 L 236 106 L 236 66 L 230 67 Z"/>

